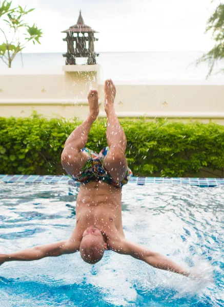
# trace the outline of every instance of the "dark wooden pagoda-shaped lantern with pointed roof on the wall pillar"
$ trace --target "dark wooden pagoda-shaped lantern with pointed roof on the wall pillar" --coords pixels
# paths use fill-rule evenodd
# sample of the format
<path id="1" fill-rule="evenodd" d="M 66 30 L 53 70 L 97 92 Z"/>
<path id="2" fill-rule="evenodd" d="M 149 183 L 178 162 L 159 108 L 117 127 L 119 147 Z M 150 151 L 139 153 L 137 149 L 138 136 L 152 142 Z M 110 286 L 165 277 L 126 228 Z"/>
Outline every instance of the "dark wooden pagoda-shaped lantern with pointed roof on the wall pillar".
<path id="1" fill-rule="evenodd" d="M 68 45 L 67 53 L 63 54 L 66 57 L 66 65 L 75 65 L 76 57 L 88 58 L 87 63 L 89 65 L 96 63 L 96 56 L 99 54 L 94 51 L 94 41 L 98 40 L 98 38 L 94 37 L 94 33 L 98 32 L 84 24 L 81 11 L 79 12 L 77 24 L 62 31 L 62 33 L 67 33 L 66 38 L 63 38 Z"/>

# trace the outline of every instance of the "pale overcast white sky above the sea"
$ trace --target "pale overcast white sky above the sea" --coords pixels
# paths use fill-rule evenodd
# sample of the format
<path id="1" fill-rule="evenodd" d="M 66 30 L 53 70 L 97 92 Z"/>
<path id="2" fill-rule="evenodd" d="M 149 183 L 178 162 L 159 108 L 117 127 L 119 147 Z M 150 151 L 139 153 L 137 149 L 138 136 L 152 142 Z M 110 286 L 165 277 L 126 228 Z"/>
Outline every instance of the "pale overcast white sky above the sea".
<path id="1" fill-rule="evenodd" d="M 25 21 L 44 32 L 42 45 L 29 43 L 24 52 L 66 52 L 61 31 L 84 22 L 100 32 L 95 51 L 208 51 L 214 46 L 205 34 L 217 2 L 211 0 L 12 0 L 35 8 Z"/>

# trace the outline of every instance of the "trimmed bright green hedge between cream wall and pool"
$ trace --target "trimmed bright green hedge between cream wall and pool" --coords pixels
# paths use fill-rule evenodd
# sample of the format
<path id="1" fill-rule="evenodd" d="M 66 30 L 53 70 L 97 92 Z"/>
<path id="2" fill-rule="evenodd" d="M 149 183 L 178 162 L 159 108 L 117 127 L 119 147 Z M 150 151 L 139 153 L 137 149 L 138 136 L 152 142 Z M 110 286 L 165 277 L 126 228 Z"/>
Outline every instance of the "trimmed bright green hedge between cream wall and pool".
<path id="1" fill-rule="evenodd" d="M 37 115 L 0 117 L 0 173 L 64 173 L 60 154 L 79 123 Z M 143 119 L 126 119 L 121 124 L 127 136 L 127 159 L 135 176 L 193 177 L 206 169 L 207 177 L 223 177 L 224 126 Z M 96 121 L 87 147 L 99 151 L 107 146 L 105 131 L 106 122 Z"/>

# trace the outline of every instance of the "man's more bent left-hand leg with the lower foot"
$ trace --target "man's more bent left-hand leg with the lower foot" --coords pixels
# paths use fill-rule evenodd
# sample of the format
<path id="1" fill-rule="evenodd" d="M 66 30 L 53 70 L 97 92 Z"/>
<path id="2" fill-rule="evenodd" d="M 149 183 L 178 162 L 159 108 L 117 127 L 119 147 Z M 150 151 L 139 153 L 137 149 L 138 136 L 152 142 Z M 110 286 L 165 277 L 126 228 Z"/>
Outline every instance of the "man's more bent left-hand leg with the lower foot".
<path id="1" fill-rule="evenodd" d="M 89 92 L 88 101 L 90 112 L 87 119 L 70 134 L 62 152 L 62 166 L 71 176 L 76 175 L 89 159 L 88 153 L 82 149 L 87 143 L 90 128 L 99 113 L 96 90 Z"/>

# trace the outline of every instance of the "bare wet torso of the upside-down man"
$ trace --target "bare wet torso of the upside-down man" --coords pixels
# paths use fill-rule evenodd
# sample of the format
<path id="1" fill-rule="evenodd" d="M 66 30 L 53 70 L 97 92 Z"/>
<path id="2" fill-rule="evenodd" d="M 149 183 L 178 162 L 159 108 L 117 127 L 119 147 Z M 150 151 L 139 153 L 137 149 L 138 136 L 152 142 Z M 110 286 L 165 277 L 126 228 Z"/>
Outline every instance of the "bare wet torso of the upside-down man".
<path id="1" fill-rule="evenodd" d="M 82 240 L 83 232 L 90 226 L 97 227 L 108 243 L 113 238 L 124 237 L 120 188 L 96 181 L 80 186 L 73 238 Z"/>

